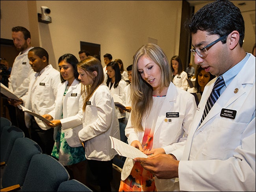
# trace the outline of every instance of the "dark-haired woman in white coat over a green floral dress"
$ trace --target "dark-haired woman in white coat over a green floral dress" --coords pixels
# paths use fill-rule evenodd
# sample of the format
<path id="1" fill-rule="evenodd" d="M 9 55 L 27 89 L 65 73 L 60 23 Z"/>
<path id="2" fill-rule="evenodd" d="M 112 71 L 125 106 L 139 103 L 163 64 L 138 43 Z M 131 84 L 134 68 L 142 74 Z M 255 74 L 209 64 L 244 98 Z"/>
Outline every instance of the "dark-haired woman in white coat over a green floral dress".
<path id="1" fill-rule="evenodd" d="M 82 125 L 81 83 L 78 79 L 78 59 L 72 54 L 59 57 L 61 83 L 55 100 L 55 108 L 43 115 L 50 120 L 54 128 L 55 143 L 52 156 L 67 168 L 72 178 L 85 183 L 85 152 L 79 140 L 78 132 Z"/>

